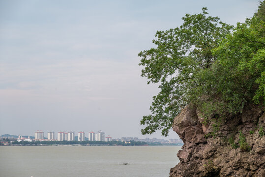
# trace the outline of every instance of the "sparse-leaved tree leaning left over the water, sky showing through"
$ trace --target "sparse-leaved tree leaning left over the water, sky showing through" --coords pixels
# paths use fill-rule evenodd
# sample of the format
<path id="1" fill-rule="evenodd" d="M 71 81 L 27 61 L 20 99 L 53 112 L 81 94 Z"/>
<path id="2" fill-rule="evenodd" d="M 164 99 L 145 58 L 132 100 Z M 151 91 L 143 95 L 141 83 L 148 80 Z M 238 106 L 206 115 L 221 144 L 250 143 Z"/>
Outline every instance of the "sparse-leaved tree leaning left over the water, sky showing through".
<path id="1" fill-rule="evenodd" d="M 152 114 L 141 120 L 141 125 L 147 125 L 142 134 L 162 129 L 162 135 L 168 135 L 174 117 L 197 97 L 195 88 L 202 87 L 197 75 L 216 60 L 211 50 L 233 28 L 218 17 L 207 16 L 206 7 L 202 10 L 200 14 L 186 14 L 179 28 L 157 31 L 153 40 L 157 48 L 138 54 L 147 84 L 160 83 L 161 89 L 153 97 Z"/>

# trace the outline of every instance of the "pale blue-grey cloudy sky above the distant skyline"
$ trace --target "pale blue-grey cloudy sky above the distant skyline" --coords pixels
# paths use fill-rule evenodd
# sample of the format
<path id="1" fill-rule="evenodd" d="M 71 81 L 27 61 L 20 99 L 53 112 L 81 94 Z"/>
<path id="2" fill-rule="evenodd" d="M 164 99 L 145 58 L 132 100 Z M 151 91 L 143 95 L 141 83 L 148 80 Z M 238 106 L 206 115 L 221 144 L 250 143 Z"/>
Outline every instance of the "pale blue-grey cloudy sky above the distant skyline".
<path id="1" fill-rule="evenodd" d="M 202 12 L 243 23 L 259 0 L 0 0 L 0 135 L 97 132 L 141 135 L 158 85 L 141 77 L 138 53 L 157 30 Z"/>

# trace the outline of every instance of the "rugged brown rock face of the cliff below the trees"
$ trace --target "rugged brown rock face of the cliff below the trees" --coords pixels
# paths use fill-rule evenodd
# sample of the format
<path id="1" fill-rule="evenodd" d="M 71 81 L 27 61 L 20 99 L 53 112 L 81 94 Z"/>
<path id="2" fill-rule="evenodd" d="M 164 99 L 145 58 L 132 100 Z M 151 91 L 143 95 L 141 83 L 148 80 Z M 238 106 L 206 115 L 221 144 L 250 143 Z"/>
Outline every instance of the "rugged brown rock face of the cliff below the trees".
<path id="1" fill-rule="evenodd" d="M 170 177 L 265 177 L 262 110 L 250 107 L 235 117 L 212 118 L 205 125 L 200 110 L 186 106 L 173 123 L 184 145 Z"/>

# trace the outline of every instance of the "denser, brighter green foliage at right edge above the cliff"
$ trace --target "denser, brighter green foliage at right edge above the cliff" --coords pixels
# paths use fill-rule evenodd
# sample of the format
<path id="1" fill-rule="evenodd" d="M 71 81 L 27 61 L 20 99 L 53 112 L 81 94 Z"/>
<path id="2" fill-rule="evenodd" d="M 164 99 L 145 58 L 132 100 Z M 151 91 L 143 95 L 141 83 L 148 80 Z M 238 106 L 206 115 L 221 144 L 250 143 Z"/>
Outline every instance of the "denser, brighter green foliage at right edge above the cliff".
<path id="1" fill-rule="evenodd" d="M 214 49 L 223 73 L 223 84 L 218 83 L 217 89 L 227 88 L 220 91 L 235 113 L 252 99 L 256 104 L 265 99 L 265 21 L 257 14 L 260 12 L 243 24 L 238 23 L 233 33 Z"/>

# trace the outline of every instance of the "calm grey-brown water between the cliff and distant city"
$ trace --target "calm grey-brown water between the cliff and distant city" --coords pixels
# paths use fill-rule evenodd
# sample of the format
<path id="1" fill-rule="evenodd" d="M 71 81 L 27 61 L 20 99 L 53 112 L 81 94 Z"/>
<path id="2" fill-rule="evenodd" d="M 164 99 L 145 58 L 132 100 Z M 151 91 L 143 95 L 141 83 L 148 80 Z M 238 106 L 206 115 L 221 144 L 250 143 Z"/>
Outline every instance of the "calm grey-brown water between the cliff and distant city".
<path id="1" fill-rule="evenodd" d="M 0 147 L 0 177 L 168 177 L 180 148 Z"/>

